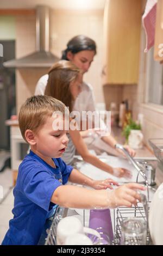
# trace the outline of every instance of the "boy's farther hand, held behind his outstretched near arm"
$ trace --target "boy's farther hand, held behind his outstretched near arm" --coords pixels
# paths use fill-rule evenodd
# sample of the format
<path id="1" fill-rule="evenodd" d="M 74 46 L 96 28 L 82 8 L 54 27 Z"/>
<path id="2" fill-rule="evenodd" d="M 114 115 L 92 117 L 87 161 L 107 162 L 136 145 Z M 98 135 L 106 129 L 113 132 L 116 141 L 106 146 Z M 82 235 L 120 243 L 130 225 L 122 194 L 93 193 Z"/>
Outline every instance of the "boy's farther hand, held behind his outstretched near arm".
<path id="1" fill-rule="evenodd" d="M 119 186 L 118 183 L 112 179 L 93 180 L 92 186 L 95 190 L 106 190 L 106 188 L 113 189 L 111 185 Z"/>

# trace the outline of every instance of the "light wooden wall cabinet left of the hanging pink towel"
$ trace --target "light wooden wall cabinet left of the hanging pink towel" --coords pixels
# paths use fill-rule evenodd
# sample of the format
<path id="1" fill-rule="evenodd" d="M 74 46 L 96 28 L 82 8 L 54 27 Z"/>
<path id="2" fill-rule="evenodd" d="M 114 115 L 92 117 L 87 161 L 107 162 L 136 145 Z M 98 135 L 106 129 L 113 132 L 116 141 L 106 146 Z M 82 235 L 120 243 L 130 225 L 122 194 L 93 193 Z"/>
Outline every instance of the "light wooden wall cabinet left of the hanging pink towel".
<path id="1" fill-rule="evenodd" d="M 141 0 L 106 1 L 103 84 L 137 83 L 141 16 Z"/>

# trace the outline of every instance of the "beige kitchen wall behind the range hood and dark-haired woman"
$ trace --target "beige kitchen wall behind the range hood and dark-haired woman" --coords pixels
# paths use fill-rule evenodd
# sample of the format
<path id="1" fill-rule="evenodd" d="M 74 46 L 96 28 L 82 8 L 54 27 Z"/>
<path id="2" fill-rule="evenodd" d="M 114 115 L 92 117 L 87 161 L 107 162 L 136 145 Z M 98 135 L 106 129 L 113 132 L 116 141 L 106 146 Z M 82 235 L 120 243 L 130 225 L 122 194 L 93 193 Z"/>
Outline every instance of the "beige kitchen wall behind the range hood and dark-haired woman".
<path id="1" fill-rule="evenodd" d="M 91 83 L 95 90 L 96 102 L 103 102 L 101 86 L 103 54 L 103 11 L 72 11 L 51 9 L 51 51 L 61 56 L 66 43 L 73 36 L 85 34 L 97 42 L 97 55 L 89 73 L 84 80 Z M 16 18 L 16 56 L 22 57 L 35 50 L 35 16 L 18 16 Z M 34 93 L 35 85 L 46 69 L 17 70 L 17 112 L 26 98 Z"/>

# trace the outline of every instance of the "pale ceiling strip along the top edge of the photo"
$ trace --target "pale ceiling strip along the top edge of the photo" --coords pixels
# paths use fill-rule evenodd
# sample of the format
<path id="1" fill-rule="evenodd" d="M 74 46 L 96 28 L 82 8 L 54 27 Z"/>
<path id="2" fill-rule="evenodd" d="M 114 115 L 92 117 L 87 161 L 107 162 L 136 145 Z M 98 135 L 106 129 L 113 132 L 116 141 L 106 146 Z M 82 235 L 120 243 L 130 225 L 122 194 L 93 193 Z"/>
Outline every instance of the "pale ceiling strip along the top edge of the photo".
<path id="1" fill-rule="evenodd" d="M 1 0 L 0 9 L 33 9 L 45 4 L 53 9 L 104 9 L 106 0 Z"/>

